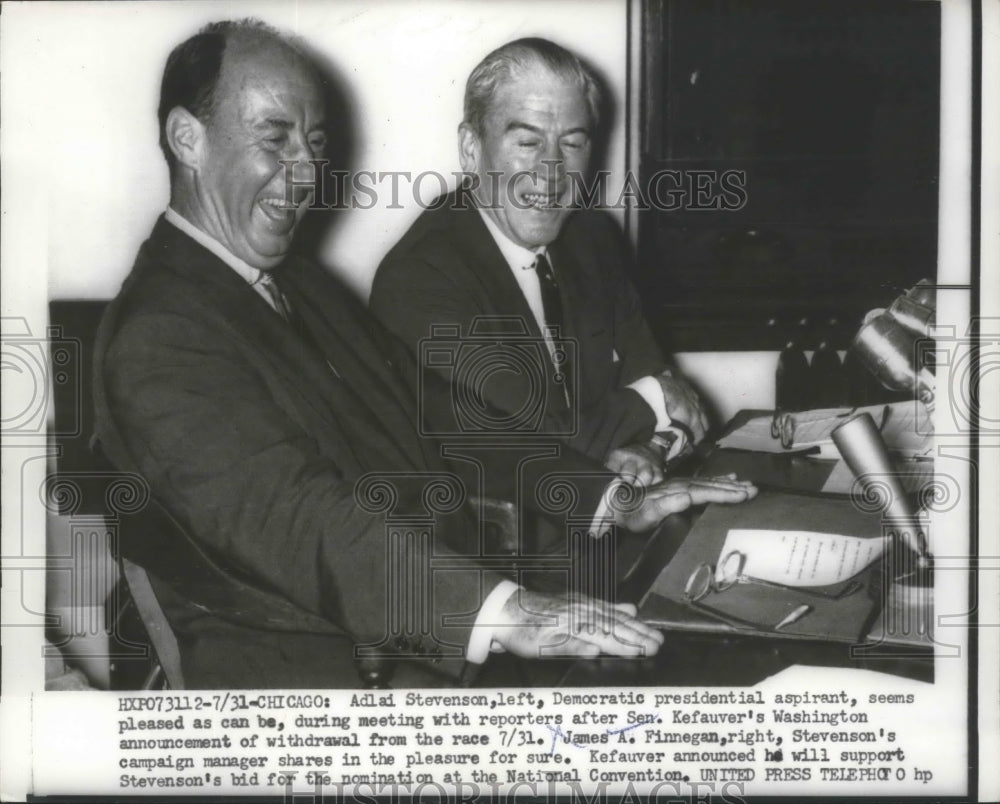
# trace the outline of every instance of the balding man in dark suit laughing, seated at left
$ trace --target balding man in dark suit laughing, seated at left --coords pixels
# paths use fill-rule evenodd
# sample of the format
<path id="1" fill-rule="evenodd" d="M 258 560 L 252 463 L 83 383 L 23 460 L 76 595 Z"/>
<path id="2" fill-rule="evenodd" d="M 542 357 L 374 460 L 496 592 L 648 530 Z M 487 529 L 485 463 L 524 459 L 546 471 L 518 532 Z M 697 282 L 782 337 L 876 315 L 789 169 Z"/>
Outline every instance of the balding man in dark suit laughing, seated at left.
<path id="1" fill-rule="evenodd" d="M 529 592 L 479 566 L 477 511 L 425 493 L 443 483 L 461 502 L 482 485 L 517 498 L 518 456 L 489 456 L 483 476 L 446 461 L 421 436 L 408 351 L 325 271 L 288 256 L 310 194 L 286 199 L 284 170 L 308 169 L 324 146 L 320 82 L 300 50 L 259 23 L 208 26 L 168 59 L 159 119 L 170 207 L 102 321 L 94 393 L 108 456 L 148 480 L 175 526 L 159 553 L 135 550 L 186 683 L 356 686 L 358 643 L 426 660 L 397 673 L 411 685 L 454 683 L 491 647 L 655 652 L 662 637 L 634 608 Z M 609 476 L 594 469 L 566 453 L 523 477 L 576 475 L 580 504 L 597 510 Z M 613 516 L 642 529 L 752 493 L 679 484 Z M 417 516 L 435 500 L 427 538 L 392 537 L 407 567 L 426 569 L 403 599 L 389 502 Z M 406 627 L 390 627 L 400 611 Z M 571 621 L 594 628 L 571 633 Z"/>

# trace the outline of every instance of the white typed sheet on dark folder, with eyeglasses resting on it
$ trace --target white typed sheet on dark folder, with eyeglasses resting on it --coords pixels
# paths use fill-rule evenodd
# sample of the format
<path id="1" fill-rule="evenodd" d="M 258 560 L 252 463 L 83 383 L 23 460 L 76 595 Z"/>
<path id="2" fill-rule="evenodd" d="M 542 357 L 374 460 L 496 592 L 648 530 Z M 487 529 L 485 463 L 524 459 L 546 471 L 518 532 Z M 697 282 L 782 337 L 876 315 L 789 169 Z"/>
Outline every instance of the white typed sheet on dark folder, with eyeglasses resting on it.
<path id="1" fill-rule="evenodd" d="M 733 528 L 719 554 L 746 556 L 743 574 L 786 586 L 827 586 L 857 575 L 882 555 L 884 542 L 808 530 Z"/>

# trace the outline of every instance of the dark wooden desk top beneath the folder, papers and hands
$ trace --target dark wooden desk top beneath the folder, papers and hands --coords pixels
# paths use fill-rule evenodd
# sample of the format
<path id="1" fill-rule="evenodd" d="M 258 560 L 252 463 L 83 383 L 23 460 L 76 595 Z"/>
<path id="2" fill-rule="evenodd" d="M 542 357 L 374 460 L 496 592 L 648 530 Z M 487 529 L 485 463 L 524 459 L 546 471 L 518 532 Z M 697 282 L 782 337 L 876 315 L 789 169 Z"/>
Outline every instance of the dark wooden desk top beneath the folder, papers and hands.
<path id="1" fill-rule="evenodd" d="M 744 411 L 729 426 L 751 415 Z M 740 477 L 771 486 L 805 491 L 822 488 L 831 462 L 791 455 L 764 455 L 736 450 L 712 450 L 694 456 L 676 474 L 737 472 Z M 845 500 L 845 505 L 850 503 Z M 629 569 L 618 585 L 618 599 L 638 603 L 660 570 L 673 557 L 690 530 L 697 511 L 669 517 L 648 537 L 619 536 L 628 555 Z M 637 547 L 637 544 L 639 545 Z M 619 554 L 621 555 L 621 553 Z M 875 631 L 879 631 L 876 625 Z M 890 635 L 891 636 L 891 635 Z M 872 639 L 864 645 L 822 641 L 774 639 L 760 636 L 700 634 L 671 631 L 659 653 L 649 659 L 602 657 L 596 660 L 520 660 L 494 656 L 480 674 L 482 686 L 743 686 L 796 664 L 876 670 L 932 681 L 933 651 L 930 643 L 915 645 L 899 640 Z"/>

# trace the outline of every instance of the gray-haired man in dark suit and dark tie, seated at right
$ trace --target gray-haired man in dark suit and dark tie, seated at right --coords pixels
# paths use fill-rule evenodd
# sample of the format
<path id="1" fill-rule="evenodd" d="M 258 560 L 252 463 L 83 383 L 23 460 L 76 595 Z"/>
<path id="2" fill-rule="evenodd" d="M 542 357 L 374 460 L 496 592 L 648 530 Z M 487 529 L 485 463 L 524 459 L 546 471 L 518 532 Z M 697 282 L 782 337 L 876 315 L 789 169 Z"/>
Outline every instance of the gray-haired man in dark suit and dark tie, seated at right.
<path id="1" fill-rule="evenodd" d="M 549 343 L 556 365 L 545 372 L 545 404 L 574 420 L 568 443 L 658 482 L 664 452 L 654 433 L 681 425 L 697 441 L 706 419 L 643 319 L 617 227 L 604 213 L 572 209 L 598 108 L 594 78 L 551 42 L 523 39 L 489 54 L 469 76 L 459 127 L 472 186 L 439 198 L 389 252 L 371 307 L 415 353 L 432 328 L 503 339 L 512 325 L 501 318 L 512 319 Z M 499 363 L 495 372 L 447 371 L 517 411 L 541 384 Z"/>

